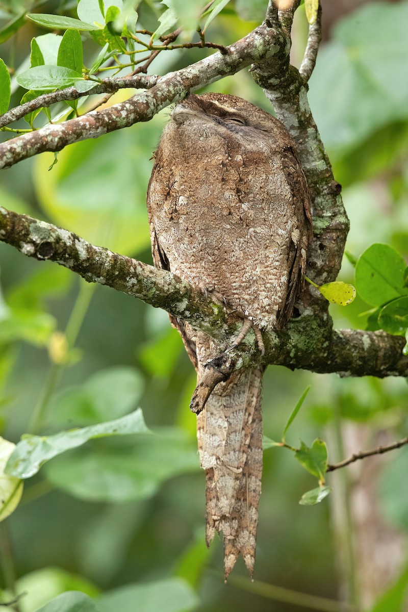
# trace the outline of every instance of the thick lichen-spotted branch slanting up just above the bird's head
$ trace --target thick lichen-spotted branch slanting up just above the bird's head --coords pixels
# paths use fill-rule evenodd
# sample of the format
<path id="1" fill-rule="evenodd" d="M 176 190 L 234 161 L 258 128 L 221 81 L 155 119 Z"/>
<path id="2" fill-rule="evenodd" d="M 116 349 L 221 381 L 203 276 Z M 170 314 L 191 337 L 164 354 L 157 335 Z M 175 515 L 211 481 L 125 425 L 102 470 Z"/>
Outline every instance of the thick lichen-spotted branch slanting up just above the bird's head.
<path id="1" fill-rule="evenodd" d="M 245 38 L 226 47 L 226 53 L 218 51 L 183 70 L 169 73 L 149 91 L 136 94 L 125 102 L 62 124 L 46 125 L 0 144 L 0 168 L 7 168 L 43 151 L 61 151 L 67 144 L 97 138 L 138 121 L 149 121 L 162 108 L 182 99 L 188 92 L 235 74 L 251 62 L 271 58 L 278 53 L 281 43 L 279 28 L 259 26 Z"/>

